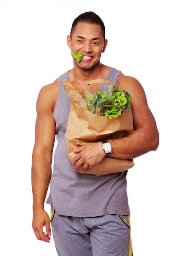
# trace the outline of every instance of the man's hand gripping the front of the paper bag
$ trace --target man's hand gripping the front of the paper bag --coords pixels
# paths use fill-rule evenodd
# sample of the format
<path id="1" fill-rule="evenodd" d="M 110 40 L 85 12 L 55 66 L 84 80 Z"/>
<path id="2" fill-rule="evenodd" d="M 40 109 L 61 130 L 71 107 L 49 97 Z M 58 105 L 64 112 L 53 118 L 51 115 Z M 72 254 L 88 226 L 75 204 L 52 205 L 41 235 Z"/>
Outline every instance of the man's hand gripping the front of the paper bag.
<path id="1" fill-rule="evenodd" d="M 77 155 L 73 159 L 74 171 L 78 171 L 83 166 L 83 171 L 91 171 L 93 166 L 102 162 L 105 157 L 102 149 L 102 142 L 86 143 L 79 148 L 74 149 Z"/>

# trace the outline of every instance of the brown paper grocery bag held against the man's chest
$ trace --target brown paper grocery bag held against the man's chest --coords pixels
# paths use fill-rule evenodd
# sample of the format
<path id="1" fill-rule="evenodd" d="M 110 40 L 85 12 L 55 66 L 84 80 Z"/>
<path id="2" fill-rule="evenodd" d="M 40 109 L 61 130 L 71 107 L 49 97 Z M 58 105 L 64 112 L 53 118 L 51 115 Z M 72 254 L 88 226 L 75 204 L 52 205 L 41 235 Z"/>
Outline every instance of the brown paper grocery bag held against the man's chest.
<path id="1" fill-rule="evenodd" d="M 131 108 L 125 109 L 123 106 L 119 117 L 109 119 L 108 117 L 101 116 L 100 111 L 97 111 L 97 115 L 95 115 L 71 101 L 71 109 L 66 127 L 68 157 L 73 162 L 73 158 L 76 155 L 73 149 L 85 143 L 121 138 L 132 132 L 133 116 Z M 86 171 L 85 173 L 97 176 L 107 175 L 125 171 L 133 166 L 133 159 L 106 157 L 100 164 L 94 166 L 91 171 Z M 84 173 L 82 166 L 78 172 Z"/>

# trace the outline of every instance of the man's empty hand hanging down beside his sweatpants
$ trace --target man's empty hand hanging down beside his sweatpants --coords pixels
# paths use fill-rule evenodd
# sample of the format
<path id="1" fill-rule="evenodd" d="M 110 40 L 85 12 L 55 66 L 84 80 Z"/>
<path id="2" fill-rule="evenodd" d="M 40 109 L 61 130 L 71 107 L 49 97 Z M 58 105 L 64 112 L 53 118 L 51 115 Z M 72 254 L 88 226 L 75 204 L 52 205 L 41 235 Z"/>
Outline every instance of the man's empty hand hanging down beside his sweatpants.
<path id="1" fill-rule="evenodd" d="M 46 227 L 46 234 L 43 232 L 43 227 Z M 38 210 L 33 213 L 33 223 L 32 227 L 35 233 L 35 236 L 38 240 L 44 242 L 50 242 L 51 228 L 50 228 L 50 218 L 46 211 Z"/>

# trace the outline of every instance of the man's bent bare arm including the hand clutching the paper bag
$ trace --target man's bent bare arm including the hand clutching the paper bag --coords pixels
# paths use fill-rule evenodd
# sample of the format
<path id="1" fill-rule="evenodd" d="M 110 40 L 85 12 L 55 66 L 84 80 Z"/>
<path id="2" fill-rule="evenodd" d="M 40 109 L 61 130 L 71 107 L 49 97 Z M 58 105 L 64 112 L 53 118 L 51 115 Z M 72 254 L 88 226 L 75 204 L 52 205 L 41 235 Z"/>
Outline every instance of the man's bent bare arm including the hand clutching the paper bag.
<path id="1" fill-rule="evenodd" d="M 131 109 L 134 118 L 134 132 L 124 138 L 108 140 L 112 145 L 111 157 L 133 159 L 156 150 L 159 144 L 159 133 L 155 118 L 150 111 L 143 87 L 136 79 L 119 75 L 119 90 L 129 92 Z M 104 159 L 101 142 L 89 143 L 74 150 L 77 155 L 73 160 L 75 171 L 84 165 L 84 171 L 90 171 L 94 165 Z"/>

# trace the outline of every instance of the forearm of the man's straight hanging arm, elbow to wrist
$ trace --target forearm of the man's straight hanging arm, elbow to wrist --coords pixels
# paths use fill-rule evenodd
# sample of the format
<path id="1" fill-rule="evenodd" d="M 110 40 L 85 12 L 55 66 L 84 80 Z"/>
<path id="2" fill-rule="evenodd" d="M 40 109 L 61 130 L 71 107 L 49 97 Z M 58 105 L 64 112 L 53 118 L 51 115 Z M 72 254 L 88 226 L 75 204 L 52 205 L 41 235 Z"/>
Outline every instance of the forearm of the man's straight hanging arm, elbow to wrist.
<path id="1" fill-rule="evenodd" d="M 44 208 L 44 201 L 51 179 L 51 160 L 51 156 L 33 152 L 31 170 L 33 211 Z"/>

